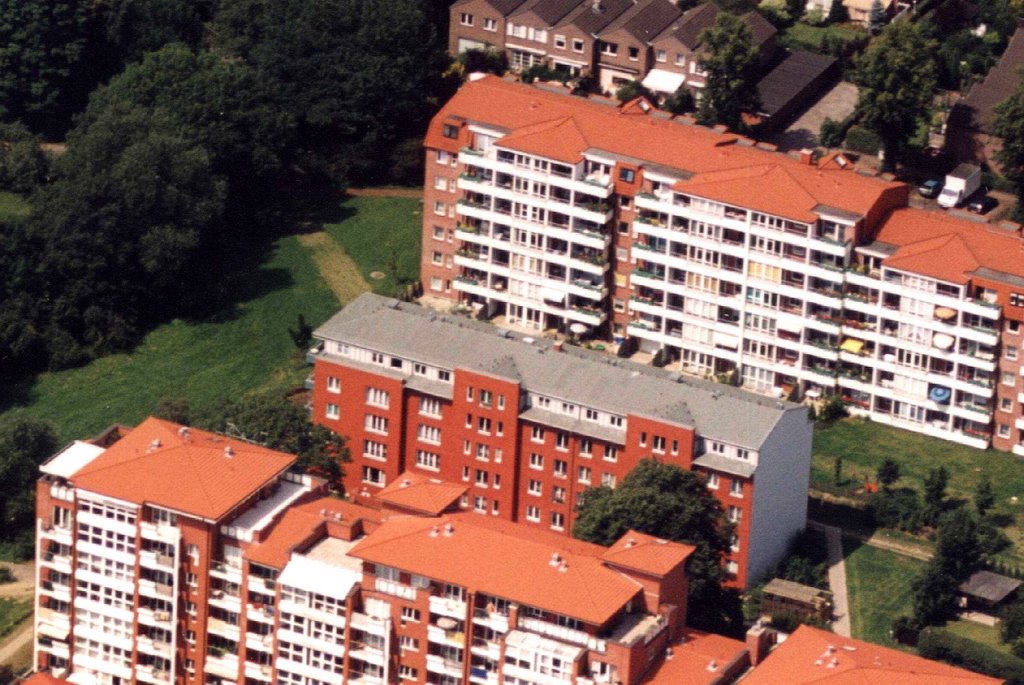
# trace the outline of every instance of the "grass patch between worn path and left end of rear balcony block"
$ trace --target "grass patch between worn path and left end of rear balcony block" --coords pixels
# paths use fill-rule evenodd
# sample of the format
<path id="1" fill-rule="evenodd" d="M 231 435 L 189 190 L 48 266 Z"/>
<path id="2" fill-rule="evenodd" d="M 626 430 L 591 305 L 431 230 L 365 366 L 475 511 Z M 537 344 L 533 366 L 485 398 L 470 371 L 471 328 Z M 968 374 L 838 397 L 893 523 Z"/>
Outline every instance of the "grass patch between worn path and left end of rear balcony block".
<path id="1" fill-rule="evenodd" d="M 381 295 L 397 295 L 420 277 L 422 202 L 416 198 L 348 198 L 342 221 L 325 226 Z M 371 273 L 380 271 L 383 279 Z"/>

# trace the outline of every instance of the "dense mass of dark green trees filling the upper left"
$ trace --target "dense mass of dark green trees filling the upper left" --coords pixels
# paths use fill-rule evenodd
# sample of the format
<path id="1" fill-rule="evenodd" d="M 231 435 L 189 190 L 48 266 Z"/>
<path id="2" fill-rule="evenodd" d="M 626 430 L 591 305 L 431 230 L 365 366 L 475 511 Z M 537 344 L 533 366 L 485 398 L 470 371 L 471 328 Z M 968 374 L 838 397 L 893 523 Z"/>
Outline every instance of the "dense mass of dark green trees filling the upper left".
<path id="1" fill-rule="evenodd" d="M 418 180 L 419 137 L 457 85 L 441 0 L 0 0 L 0 15 L 16 19 L 0 23 L 0 189 L 33 208 L 0 225 L 0 374 L 223 307 L 296 187 Z M 47 163 L 34 134 L 67 153 Z"/>

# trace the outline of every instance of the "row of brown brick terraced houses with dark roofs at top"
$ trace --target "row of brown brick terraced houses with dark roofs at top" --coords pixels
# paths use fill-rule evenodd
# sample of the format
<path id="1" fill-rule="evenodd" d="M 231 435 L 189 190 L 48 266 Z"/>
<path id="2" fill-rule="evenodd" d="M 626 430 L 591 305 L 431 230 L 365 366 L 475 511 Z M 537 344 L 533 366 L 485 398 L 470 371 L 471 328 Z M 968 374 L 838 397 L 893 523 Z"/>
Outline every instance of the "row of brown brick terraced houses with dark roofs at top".
<path id="1" fill-rule="evenodd" d="M 718 11 L 708 2 L 684 12 L 672 0 L 459 0 L 451 9 L 449 51 L 503 51 L 515 72 L 542 65 L 588 74 L 608 93 L 636 80 L 662 94 L 684 84 L 699 90 L 699 35 Z M 767 63 L 775 29 L 757 12 L 743 20 Z"/>

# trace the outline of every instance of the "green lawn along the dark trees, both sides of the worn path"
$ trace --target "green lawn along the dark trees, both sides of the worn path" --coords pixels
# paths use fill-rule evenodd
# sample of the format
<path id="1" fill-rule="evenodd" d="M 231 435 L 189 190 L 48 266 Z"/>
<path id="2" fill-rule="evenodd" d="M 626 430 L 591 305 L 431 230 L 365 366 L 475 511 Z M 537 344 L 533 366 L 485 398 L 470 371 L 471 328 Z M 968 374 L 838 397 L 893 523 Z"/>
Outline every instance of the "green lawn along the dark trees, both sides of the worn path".
<path id="1" fill-rule="evenodd" d="M 348 200 L 343 203 L 347 218 L 331 225 L 330 231 L 351 249 L 364 273 L 390 273 L 388 250 L 393 249 L 400 277 L 415 280 L 418 208 L 415 200 Z M 300 384 L 309 370 L 288 328 L 295 326 L 300 312 L 314 326 L 321 324 L 337 310 L 338 300 L 296 238 L 280 240 L 272 256 L 250 277 L 246 290 L 256 295 L 215 320 L 175 320 L 150 333 L 131 353 L 41 374 L 24 387 L 0 386 L 0 397 L 14 398 L 5 415 L 47 419 L 61 440 L 71 440 L 112 423 L 135 423 L 152 414 L 161 397 L 184 397 L 202 411 L 255 389 Z M 369 281 L 381 292 L 394 284 L 390 275 Z"/>

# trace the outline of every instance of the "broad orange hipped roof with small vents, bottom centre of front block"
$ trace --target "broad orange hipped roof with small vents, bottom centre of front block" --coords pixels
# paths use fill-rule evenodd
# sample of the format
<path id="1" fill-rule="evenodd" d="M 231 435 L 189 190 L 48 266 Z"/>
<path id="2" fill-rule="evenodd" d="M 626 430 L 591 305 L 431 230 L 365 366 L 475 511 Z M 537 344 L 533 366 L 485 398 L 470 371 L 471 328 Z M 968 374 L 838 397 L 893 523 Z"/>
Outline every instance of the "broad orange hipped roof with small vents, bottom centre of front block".
<path id="1" fill-rule="evenodd" d="M 597 626 L 641 591 L 599 558 L 565 547 L 509 540 L 472 519 L 443 516 L 385 521 L 349 554 Z"/>

